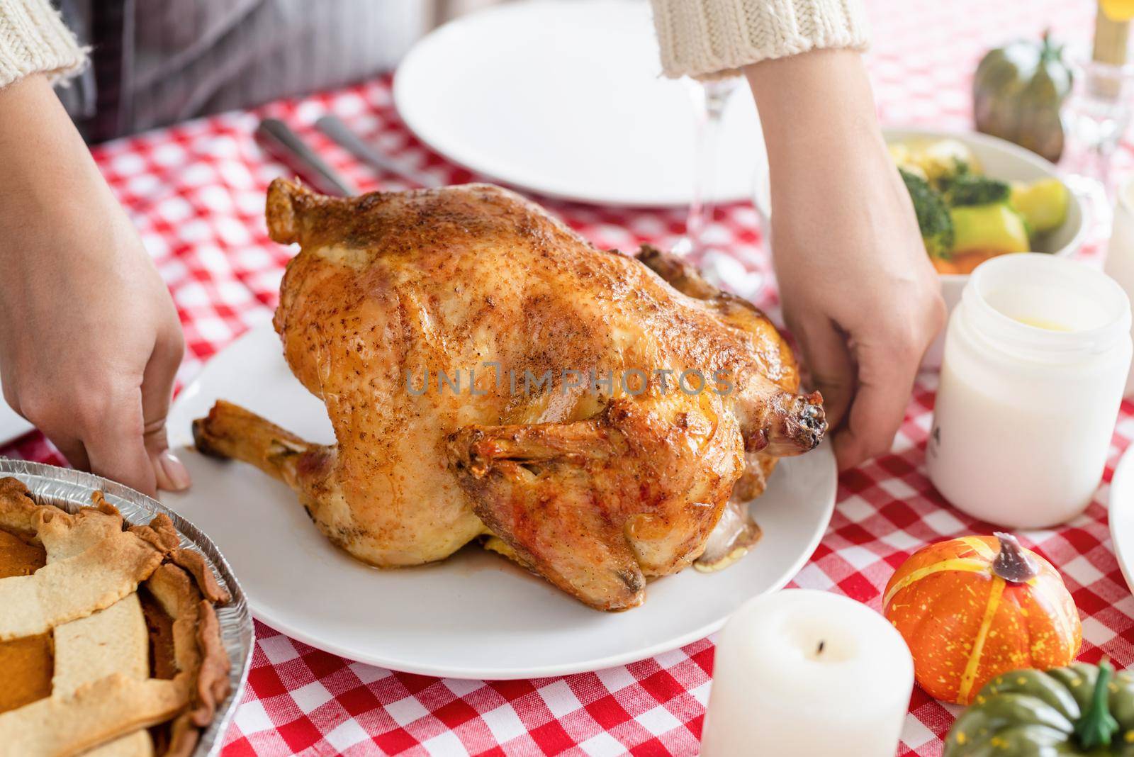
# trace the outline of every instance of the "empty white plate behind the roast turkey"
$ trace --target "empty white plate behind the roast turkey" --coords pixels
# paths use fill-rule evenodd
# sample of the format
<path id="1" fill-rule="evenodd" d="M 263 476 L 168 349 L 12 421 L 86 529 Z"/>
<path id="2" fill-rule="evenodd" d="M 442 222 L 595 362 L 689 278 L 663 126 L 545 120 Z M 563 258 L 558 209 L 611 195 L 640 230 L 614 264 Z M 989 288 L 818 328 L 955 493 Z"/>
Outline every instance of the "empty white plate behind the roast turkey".
<path id="1" fill-rule="evenodd" d="M 603 205 L 687 205 L 700 90 L 662 77 L 645 0 L 522 0 L 421 40 L 393 79 L 406 125 L 473 171 Z M 713 161 L 720 201 L 752 196 L 767 165 L 743 82 Z"/>

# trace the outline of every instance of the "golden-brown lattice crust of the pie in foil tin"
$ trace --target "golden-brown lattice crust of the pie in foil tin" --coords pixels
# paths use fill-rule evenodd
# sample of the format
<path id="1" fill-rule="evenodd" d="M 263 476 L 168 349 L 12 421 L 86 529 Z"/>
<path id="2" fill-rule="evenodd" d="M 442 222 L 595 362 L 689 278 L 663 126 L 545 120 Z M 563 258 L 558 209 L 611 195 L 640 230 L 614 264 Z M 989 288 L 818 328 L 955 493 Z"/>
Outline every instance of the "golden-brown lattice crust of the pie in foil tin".
<path id="1" fill-rule="evenodd" d="M 50 632 L 51 695 L 0 713 L 0 756 L 154 755 L 193 751 L 229 691 L 214 604 L 228 602 L 204 559 L 180 548 L 164 514 L 124 529 L 101 492 L 74 514 L 36 504 L 0 479 L 0 530 L 42 545 L 46 564 L 0 578 L 0 644 Z M 138 586 L 171 622 L 172 678 L 151 678 L 151 639 Z M 18 686 L 5 680 L 0 686 Z M 90 751 L 88 751 L 90 750 Z"/>

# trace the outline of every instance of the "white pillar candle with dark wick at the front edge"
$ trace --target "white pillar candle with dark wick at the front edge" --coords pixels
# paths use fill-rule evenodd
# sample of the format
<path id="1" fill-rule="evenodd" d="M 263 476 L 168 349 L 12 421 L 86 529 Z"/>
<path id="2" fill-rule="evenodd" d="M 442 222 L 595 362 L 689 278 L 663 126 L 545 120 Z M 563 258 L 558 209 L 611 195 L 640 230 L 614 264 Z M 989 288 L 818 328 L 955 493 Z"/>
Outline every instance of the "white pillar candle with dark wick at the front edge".
<path id="1" fill-rule="evenodd" d="M 787 589 L 717 639 L 702 757 L 894 757 L 914 686 L 902 635 L 866 605 Z"/>

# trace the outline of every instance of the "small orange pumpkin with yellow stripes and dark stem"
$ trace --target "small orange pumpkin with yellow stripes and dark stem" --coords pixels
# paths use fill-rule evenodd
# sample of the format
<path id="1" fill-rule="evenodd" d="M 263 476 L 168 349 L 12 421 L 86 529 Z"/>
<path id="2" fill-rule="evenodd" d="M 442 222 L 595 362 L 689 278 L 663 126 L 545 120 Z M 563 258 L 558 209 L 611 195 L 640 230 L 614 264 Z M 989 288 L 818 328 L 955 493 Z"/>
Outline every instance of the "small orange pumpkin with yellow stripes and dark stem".
<path id="1" fill-rule="evenodd" d="M 1000 673 L 1067 665 L 1083 644 L 1058 571 L 1009 534 L 922 547 L 890 578 L 882 606 L 919 686 L 960 705 Z"/>

